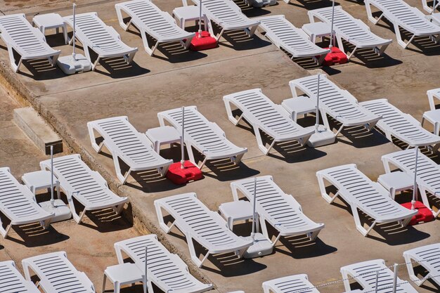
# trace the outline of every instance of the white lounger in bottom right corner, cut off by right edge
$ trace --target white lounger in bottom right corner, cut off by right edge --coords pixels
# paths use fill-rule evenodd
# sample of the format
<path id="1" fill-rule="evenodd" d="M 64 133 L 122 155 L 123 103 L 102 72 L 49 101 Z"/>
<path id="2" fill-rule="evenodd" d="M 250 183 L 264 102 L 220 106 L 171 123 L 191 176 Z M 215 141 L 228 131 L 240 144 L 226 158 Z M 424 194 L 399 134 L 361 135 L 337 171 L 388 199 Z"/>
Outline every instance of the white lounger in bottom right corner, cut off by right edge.
<path id="1" fill-rule="evenodd" d="M 440 243 L 407 250 L 403 252 L 403 257 L 406 268 L 408 268 L 408 275 L 415 282 L 415 285 L 421 286 L 428 279 L 432 279 L 437 285 L 440 285 Z M 415 275 L 413 263 L 418 263 L 425 268 L 428 271 L 427 275 L 422 279 L 418 278 Z"/>

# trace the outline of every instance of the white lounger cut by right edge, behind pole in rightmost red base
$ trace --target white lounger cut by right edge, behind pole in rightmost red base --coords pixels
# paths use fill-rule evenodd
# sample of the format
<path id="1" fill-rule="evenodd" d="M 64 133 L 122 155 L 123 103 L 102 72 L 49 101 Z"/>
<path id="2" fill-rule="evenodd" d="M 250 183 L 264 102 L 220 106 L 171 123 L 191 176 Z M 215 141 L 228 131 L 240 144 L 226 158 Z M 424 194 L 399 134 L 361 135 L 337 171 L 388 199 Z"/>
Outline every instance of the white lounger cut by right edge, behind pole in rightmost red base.
<path id="1" fill-rule="evenodd" d="M 401 150 L 399 152 L 392 152 L 388 155 L 382 156 L 382 163 L 387 173 L 391 172 L 391 167 L 401 169 L 411 177 L 414 177 L 415 168 L 415 151 L 414 150 Z M 417 185 L 420 190 L 423 204 L 426 207 L 430 207 L 427 193 L 440 198 L 440 166 L 436 164 L 432 159 L 429 159 L 426 155 L 418 152 L 418 164 L 417 164 Z M 434 216 L 439 216 L 439 211 L 432 211 Z"/>

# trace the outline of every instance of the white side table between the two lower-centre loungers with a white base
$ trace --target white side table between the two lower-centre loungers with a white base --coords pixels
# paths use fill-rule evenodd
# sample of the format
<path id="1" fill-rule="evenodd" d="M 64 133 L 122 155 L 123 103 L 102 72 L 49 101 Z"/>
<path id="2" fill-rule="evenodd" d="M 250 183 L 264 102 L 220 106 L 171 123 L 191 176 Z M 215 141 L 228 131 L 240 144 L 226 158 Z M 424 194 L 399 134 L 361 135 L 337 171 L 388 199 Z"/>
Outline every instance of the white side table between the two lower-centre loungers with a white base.
<path id="1" fill-rule="evenodd" d="M 245 200 L 238 200 L 237 202 L 225 202 L 220 204 L 219 212 L 224 216 L 228 222 L 229 230 L 233 230 L 235 221 L 252 219 L 252 204 Z M 257 213 L 255 213 L 257 215 Z M 258 219 L 255 219 L 257 231 L 259 230 Z M 257 232 L 256 231 L 256 232 Z"/>

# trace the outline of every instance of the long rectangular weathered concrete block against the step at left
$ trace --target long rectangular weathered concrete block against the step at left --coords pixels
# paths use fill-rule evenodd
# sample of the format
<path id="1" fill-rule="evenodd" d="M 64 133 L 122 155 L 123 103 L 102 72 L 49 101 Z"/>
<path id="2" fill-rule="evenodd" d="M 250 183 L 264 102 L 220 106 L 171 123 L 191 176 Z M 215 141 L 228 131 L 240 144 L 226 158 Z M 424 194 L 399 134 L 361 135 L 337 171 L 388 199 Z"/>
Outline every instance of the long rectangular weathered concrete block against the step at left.
<path id="1" fill-rule="evenodd" d="M 44 154 L 51 154 L 51 145 L 53 145 L 54 154 L 63 152 L 63 140 L 46 124 L 34 108 L 15 109 L 14 122 Z"/>

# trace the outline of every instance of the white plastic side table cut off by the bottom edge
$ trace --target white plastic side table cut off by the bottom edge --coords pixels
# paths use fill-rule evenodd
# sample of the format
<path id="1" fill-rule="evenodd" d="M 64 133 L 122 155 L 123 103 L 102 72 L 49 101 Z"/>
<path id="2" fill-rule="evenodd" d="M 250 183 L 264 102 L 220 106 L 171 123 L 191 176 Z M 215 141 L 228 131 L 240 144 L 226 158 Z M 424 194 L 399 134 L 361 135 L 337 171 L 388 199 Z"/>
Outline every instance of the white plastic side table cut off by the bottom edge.
<path id="1" fill-rule="evenodd" d="M 105 291 L 105 283 L 107 279 L 113 283 L 115 287 L 114 292 L 119 293 L 121 287 L 124 285 L 129 285 L 136 282 L 143 282 L 144 275 L 138 266 L 134 263 L 121 263 L 116 266 L 109 266 L 105 268 L 104 271 L 104 280 L 103 280 L 103 292 Z M 147 293 L 145 290 L 145 284 L 143 286 L 143 292 Z"/>

